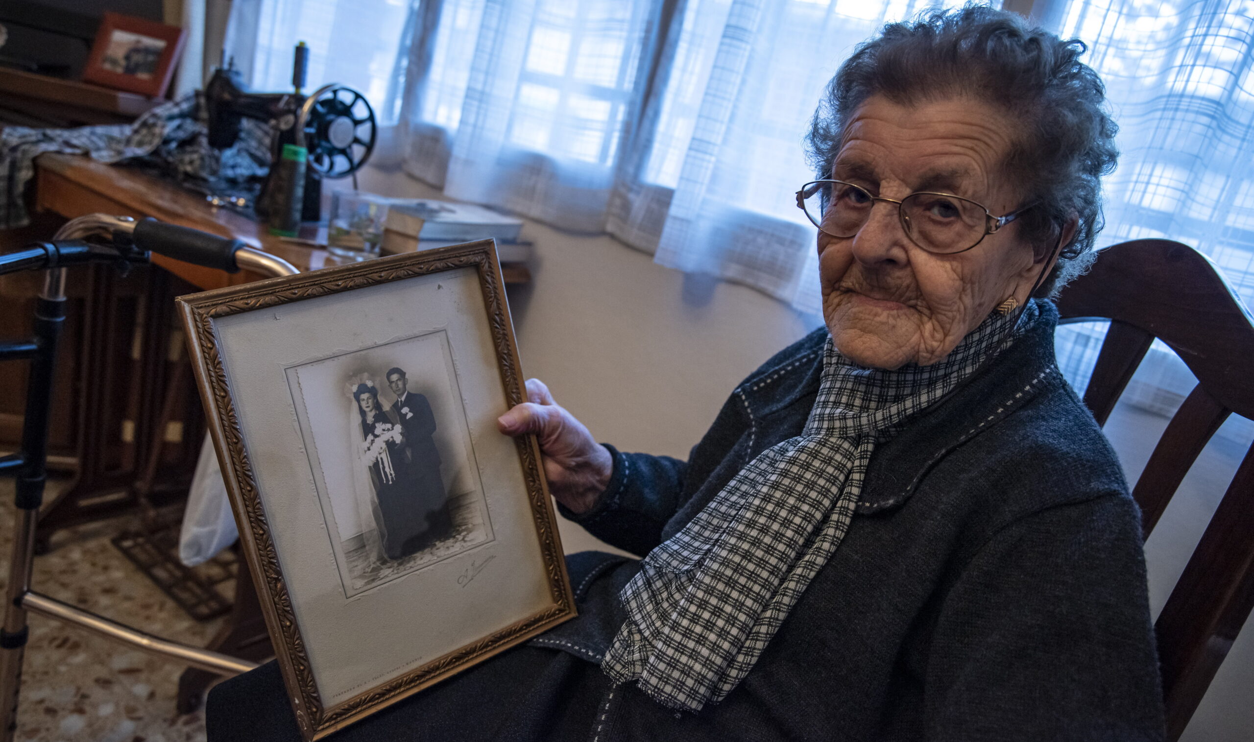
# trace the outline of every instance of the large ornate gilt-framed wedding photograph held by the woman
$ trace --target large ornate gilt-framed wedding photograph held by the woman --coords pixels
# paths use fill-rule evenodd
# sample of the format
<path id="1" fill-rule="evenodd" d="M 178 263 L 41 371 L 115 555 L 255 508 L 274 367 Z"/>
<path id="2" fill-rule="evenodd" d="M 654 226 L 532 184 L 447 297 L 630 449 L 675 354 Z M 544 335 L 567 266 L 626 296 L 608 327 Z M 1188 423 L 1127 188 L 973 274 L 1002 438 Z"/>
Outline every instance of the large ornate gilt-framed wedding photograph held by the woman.
<path id="1" fill-rule="evenodd" d="M 178 302 L 306 739 L 574 617 L 490 239 Z"/>

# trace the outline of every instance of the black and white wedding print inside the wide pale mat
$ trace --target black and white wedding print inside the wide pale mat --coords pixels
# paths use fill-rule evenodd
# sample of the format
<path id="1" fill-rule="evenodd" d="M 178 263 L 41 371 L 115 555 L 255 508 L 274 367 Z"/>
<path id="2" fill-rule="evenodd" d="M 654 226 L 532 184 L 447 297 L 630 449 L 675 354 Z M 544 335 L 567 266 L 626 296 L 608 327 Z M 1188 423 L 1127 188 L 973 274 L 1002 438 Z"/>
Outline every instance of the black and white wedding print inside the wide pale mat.
<path id="1" fill-rule="evenodd" d="M 288 368 L 288 384 L 346 597 L 492 540 L 444 331 Z"/>

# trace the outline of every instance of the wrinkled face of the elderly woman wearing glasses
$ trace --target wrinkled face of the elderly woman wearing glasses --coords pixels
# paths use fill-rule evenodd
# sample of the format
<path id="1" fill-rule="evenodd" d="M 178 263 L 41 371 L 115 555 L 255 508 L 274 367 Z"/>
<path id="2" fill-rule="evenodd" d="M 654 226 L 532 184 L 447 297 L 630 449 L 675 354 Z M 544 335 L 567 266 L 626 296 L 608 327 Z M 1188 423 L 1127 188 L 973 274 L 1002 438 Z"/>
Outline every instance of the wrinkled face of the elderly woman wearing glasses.
<path id="1" fill-rule="evenodd" d="M 993 216 L 1021 206 L 1002 172 L 1012 124 L 969 99 L 899 105 L 868 99 L 854 114 L 830 178 L 874 196 L 953 193 Z M 823 315 L 846 357 L 878 368 L 946 357 L 1007 297 L 1027 301 L 1042 263 L 1011 223 L 973 249 L 935 254 L 905 236 L 897 204 L 877 202 L 855 236 L 819 232 Z"/>

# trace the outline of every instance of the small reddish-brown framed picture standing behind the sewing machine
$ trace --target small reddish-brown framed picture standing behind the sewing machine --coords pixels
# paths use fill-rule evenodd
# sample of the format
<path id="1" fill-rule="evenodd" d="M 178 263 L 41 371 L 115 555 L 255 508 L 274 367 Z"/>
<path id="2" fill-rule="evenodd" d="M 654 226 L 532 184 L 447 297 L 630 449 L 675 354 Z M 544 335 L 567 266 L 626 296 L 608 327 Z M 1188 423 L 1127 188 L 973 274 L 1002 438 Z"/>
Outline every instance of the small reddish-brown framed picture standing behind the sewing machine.
<path id="1" fill-rule="evenodd" d="M 83 80 L 159 98 L 169 86 L 184 38 L 178 26 L 105 13 Z"/>

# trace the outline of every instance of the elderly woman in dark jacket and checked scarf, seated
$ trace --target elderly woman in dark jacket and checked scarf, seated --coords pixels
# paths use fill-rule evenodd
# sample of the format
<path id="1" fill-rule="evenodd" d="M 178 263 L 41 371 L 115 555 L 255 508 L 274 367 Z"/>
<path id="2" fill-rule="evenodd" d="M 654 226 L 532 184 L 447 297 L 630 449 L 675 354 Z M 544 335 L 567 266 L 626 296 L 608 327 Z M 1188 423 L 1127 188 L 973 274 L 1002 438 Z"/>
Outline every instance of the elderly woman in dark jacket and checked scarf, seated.
<path id="1" fill-rule="evenodd" d="M 1115 160 L 1082 50 L 987 8 L 861 45 L 799 193 L 826 326 L 686 462 L 598 445 L 528 382 L 502 430 L 646 556 L 571 556 L 576 620 L 342 739 L 1161 738 L 1137 509 L 1041 298 L 1087 263 Z M 261 673 L 268 706 L 211 696 L 212 738 L 296 738 Z"/>

